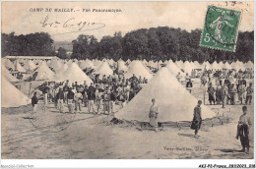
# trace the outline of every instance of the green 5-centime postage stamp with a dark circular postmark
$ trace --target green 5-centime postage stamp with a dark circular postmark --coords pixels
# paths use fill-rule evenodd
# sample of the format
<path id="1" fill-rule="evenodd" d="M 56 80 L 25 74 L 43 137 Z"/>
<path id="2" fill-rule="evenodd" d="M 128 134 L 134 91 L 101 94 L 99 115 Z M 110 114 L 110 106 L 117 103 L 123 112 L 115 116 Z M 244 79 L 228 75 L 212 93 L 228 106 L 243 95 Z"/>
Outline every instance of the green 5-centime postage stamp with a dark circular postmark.
<path id="1" fill-rule="evenodd" d="M 235 51 L 240 11 L 208 6 L 200 45 Z"/>

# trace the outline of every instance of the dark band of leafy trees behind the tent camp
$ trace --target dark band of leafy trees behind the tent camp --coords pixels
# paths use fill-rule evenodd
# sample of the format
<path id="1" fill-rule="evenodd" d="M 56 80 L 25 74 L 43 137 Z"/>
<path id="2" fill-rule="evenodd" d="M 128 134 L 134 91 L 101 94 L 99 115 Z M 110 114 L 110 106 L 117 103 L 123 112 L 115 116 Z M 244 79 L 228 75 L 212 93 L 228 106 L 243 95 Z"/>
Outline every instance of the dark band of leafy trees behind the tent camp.
<path id="1" fill-rule="evenodd" d="M 80 34 L 77 39 L 72 41 L 73 53 L 70 57 L 77 59 L 108 58 L 115 61 L 120 58 L 123 60 L 146 59 L 147 61 L 172 59 L 173 61 L 188 60 L 198 61 L 200 63 L 204 61 L 212 63 L 215 60 L 218 62 L 236 60 L 243 62 L 253 61 L 254 31 L 239 31 L 235 52 L 200 46 L 201 33 L 201 29 L 194 29 L 188 32 L 181 28 L 159 27 L 133 30 L 127 32 L 124 36 L 118 31 L 112 36 L 103 36 L 100 40 L 97 40 L 94 35 Z M 7 41 L 10 41 L 11 34 L 2 33 L 2 56 L 3 52 L 12 53 L 9 55 L 31 54 L 33 56 L 44 56 L 54 53 L 52 48 L 53 40 L 49 34 L 41 32 L 37 33 L 37 35 L 40 35 L 38 39 L 30 39 L 30 47 L 27 45 L 27 47 L 24 46 L 25 50 L 18 50 L 22 49 L 24 45 L 20 44 L 20 42 L 28 42 L 28 40 L 19 41 L 18 39 L 20 39 L 21 35 L 13 35 L 13 38 L 14 36 L 16 37 L 16 40 L 13 39 L 15 42 L 12 44 L 10 42 L 7 43 L 5 42 L 5 38 L 8 37 L 9 40 Z M 22 39 L 25 38 L 24 36 L 27 35 L 23 35 Z M 42 37 L 47 38 L 47 40 L 40 40 Z M 14 47 L 14 45 L 20 46 Z M 67 58 L 65 49 L 63 48 L 59 49 L 59 52 L 55 55 L 58 55 L 60 58 Z"/>

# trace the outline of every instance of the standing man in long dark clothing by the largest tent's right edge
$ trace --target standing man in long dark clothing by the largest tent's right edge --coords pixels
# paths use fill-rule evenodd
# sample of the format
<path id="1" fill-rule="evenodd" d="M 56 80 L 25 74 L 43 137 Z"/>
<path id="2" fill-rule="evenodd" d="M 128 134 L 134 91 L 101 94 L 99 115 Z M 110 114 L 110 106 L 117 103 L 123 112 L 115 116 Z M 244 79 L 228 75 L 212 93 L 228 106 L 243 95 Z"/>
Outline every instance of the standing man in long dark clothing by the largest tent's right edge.
<path id="1" fill-rule="evenodd" d="M 193 122 L 191 125 L 191 129 L 195 130 L 195 138 L 198 139 L 199 136 L 198 131 L 201 127 L 201 123 L 202 123 L 202 114 L 201 114 L 201 104 L 202 104 L 202 100 L 198 100 L 197 106 L 194 108 L 194 118 L 193 118 Z"/>

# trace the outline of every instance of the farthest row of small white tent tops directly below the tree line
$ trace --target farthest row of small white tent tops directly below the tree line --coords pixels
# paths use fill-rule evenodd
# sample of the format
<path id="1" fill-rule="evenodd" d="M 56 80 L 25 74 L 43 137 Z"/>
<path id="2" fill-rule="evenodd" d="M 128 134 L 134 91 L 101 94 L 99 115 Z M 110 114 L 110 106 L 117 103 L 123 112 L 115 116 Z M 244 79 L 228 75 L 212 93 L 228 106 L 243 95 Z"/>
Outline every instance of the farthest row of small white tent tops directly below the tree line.
<path id="1" fill-rule="evenodd" d="M 129 65 L 132 61 L 130 61 L 129 59 L 125 62 L 123 60 L 119 60 L 117 62 L 113 61 L 112 59 L 108 59 L 108 60 L 105 60 L 110 66 L 117 66 L 119 67 L 120 70 L 122 71 L 127 71 L 127 67 L 126 65 Z M 20 63 L 24 63 L 24 66 L 23 68 L 21 68 L 21 65 L 19 64 Z M 19 67 L 18 69 L 20 69 L 19 71 L 26 71 L 26 70 L 34 70 L 36 68 L 36 65 L 35 64 L 40 64 L 41 60 L 19 60 L 18 63 L 12 63 L 9 59 L 2 59 L 2 63 L 5 64 L 6 67 L 8 68 L 12 68 L 12 69 L 15 69 L 15 64 L 17 64 L 17 67 Z M 66 61 L 64 60 L 60 60 L 60 59 L 53 59 L 51 61 L 48 61 L 47 62 L 47 65 L 49 67 L 55 67 L 55 69 L 60 69 L 61 66 L 65 63 Z M 81 69 L 86 69 L 86 68 L 93 68 L 93 69 L 96 69 L 98 66 L 101 65 L 102 61 L 100 60 L 89 60 L 89 59 L 86 59 L 86 60 L 80 60 L 78 61 L 77 59 L 74 59 L 74 60 L 69 60 L 68 62 L 66 62 L 67 64 L 70 64 L 72 62 L 76 62 Z M 167 64 L 168 61 L 157 61 L 157 62 L 154 62 L 154 61 L 146 61 L 146 60 L 143 60 L 142 61 L 143 65 L 147 66 L 147 67 L 151 67 L 151 68 L 160 68 L 162 64 Z M 176 66 L 179 67 L 180 69 L 184 70 L 185 72 L 191 72 L 191 70 L 193 69 L 214 69 L 214 70 L 221 70 L 221 69 L 241 69 L 242 71 L 244 71 L 246 68 L 248 69 L 253 69 L 253 63 L 251 61 L 248 61 L 246 63 L 243 63 L 241 61 L 236 61 L 236 62 L 232 62 L 231 64 L 228 64 L 227 62 L 217 62 L 215 61 L 214 63 L 210 64 L 208 61 L 200 64 L 199 62 L 197 61 L 194 61 L 194 62 L 189 62 L 189 61 L 185 61 L 185 62 L 182 62 L 182 61 L 176 61 L 175 62 Z"/>

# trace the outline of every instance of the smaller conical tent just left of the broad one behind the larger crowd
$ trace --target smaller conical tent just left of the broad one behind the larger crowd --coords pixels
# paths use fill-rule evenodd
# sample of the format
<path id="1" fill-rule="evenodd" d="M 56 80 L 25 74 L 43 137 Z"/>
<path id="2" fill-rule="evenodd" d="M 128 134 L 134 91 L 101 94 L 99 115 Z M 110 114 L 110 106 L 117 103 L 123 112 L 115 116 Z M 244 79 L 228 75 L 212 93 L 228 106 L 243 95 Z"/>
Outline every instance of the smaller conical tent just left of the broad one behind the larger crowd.
<path id="1" fill-rule="evenodd" d="M 51 80 L 54 73 L 49 69 L 46 62 L 41 62 L 39 67 L 34 70 L 33 75 L 36 74 L 35 80 Z"/>

